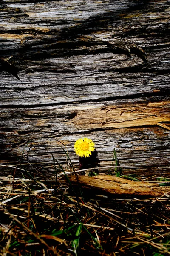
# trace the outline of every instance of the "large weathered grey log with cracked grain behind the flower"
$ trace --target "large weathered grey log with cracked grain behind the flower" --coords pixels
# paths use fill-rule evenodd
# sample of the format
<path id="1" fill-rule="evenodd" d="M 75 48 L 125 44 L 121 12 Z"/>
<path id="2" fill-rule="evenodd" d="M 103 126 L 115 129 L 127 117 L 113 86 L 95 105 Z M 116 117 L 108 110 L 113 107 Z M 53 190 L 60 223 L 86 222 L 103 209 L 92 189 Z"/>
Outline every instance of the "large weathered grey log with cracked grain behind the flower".
<path id="1" fill-rule="evenodd" d="M 169 172 L 169 13 L 165 0 L 1 1 L 0 163 L 53 170 L 62 140 L 78 166 L 89 137 L 101 166 L 116 148 L 139 175 Z"/>

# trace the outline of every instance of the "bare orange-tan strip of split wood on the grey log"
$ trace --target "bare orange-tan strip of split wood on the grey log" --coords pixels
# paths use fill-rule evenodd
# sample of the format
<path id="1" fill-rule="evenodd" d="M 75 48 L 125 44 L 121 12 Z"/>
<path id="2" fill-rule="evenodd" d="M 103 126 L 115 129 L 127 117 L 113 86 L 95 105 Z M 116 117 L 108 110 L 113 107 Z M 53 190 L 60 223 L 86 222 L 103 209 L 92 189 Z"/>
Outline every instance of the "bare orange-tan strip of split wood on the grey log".
<path id="1" fill-rule="evenodd" d="M 79 128 L 127 128 L 145 125 L 156 125 L 159 122 L 170 122 L 170 101 L 141 102 L 105 106 L 99 109 L 88 108 L 74 112 L 71 119 Z"/>

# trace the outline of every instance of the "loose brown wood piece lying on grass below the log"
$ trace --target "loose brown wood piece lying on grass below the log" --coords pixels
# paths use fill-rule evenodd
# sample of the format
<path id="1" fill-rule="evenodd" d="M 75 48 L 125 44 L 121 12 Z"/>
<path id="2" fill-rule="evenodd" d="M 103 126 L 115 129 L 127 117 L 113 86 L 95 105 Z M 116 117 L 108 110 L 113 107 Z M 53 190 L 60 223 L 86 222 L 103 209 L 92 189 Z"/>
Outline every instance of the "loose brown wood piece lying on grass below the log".
<path id="1" fill-rule="evenodd" d="M 144 181 L 131 181 L 110 175 L 78 176 L 78 179 L 82 189 L 95 189 L 102 194 L 157 197 L 170 193 L 170 187 Z M 69 177 L 69 180 L 73 185 L 77 185 L 75 176 Z"/>

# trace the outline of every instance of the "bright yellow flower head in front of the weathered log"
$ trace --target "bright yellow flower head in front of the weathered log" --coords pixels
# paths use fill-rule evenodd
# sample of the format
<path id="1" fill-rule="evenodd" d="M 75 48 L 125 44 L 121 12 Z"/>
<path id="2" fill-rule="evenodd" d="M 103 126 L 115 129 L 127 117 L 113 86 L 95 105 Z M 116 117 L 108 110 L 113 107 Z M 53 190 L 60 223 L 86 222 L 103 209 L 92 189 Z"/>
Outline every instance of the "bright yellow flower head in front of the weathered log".
<path id="1" fill-rule="evenodd" d="M 74 144 L 74 151 L 79 157 L 89 157 L 94 150 L 94 142 L 88 138 L 80 138 Z"/>

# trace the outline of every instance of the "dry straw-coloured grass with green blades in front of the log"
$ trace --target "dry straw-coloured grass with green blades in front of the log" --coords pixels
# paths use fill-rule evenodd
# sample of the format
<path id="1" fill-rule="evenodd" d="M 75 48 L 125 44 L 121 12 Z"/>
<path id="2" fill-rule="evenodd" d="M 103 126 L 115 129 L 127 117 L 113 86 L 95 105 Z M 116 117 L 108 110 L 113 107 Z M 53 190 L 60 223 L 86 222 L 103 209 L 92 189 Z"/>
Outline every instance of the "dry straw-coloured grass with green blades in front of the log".
<path id="1" fill-rule="evenodd" d="M 116 151 L 114 158 L 116 175 L 121 177 Z M 13 176 L 0 178 L 1 255 L 170 255 L 169 195 L 86 195 L 68 182 L 67 175 L 78 175 L 78 170 L 68 155 L 67 161 L 71 172 L 54 159 L 54 172 L 38 167 L 32 172 L 21 165 Z M 170 179 L 143 180 L 164 184 Z"/>

